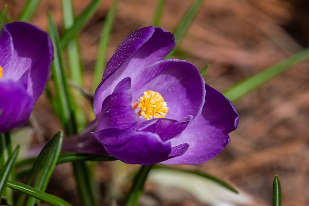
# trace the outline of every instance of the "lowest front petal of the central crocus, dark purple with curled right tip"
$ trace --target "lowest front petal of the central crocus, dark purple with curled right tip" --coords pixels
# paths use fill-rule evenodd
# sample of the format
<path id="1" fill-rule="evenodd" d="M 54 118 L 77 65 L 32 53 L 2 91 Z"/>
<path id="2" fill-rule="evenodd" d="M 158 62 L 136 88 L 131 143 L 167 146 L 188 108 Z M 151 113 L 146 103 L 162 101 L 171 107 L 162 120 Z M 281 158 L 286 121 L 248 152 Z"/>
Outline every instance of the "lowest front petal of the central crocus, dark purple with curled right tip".
<path id="1" fill-rule="evenodd" d="M 127 164 L 152 165 L 182 155 L 187 144 L 171 148 L 157 134 L 120 129 L 103 129 L 92 133 L 116 159 Z"/>

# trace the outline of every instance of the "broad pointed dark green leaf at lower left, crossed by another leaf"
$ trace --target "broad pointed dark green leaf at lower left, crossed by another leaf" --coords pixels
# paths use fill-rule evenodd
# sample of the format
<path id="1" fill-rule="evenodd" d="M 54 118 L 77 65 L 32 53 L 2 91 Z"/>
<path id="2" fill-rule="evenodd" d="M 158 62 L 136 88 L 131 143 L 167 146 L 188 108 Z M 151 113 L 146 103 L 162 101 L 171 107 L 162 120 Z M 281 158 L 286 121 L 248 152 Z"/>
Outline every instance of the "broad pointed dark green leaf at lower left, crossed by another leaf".
<path id="1" fill-rule="evenodd" d="M 39 167 L 41 167 L 36 183 L 34 185 L 34 188 L 38 189 L 39 191 L 44 192 L 46 190 L 50 176 L 55 168 L 61 151 L 62 140 L 63 132 L 59 131 L 47 142 L 47 146 L 43 148 L 39 154 L 37 162 L 33 167 L 33 170 L 38 170 Z M 36 166 L 38 167 L 35 168 Z M 35 206 L 38 204 L 38 200 L 35 198 L 29 198 L 26 206 Z"/>

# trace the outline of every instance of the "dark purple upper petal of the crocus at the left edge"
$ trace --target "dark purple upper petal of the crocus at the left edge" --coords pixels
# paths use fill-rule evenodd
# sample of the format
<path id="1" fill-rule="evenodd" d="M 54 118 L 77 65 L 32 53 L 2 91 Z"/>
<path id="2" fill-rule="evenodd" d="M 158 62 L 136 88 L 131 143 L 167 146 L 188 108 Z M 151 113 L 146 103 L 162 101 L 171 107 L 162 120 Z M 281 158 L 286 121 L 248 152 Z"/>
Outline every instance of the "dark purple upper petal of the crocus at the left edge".
<path id="1" fill-rule="evenodd" d="M 3 78 L 17 82 L 28 72 L 27 92 L 37 100 L 48 80 L 53 59 L 52 43 L 45 32 L 25 22 L 6 24 L 0 42 L 8 42 L 8 34 L 13 53 L 9 62 L 8 58 L 0 61 L 3 64 L 0 65 L 4 70 Z"/>

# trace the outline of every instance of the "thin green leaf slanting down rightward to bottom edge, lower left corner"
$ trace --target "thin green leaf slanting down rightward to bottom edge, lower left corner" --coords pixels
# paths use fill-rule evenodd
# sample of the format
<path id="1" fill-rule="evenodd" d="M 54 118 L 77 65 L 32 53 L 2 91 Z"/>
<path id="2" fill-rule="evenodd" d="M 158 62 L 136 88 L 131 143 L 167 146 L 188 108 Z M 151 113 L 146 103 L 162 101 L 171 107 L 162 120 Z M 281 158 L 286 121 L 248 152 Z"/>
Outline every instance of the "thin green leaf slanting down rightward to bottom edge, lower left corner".
<path id="1" fill-rule="evenodd" d="M 50 206 L 71 206 L 69 203 L 62 200 L 61 198 L 41 192 L 29 185 L 26 185 L 20 182 L 8 181 L 7 186 L 12 188 L 15 191 L 21 192 L 25 195 L 29 195 L 44 203 L 47 203 Z"/>

